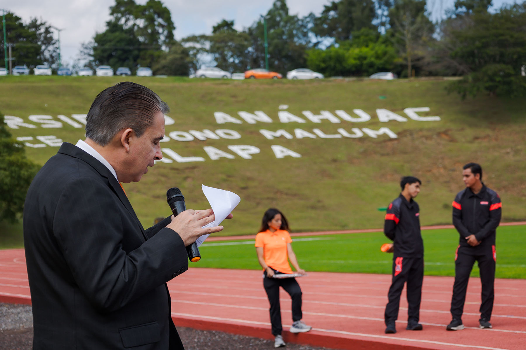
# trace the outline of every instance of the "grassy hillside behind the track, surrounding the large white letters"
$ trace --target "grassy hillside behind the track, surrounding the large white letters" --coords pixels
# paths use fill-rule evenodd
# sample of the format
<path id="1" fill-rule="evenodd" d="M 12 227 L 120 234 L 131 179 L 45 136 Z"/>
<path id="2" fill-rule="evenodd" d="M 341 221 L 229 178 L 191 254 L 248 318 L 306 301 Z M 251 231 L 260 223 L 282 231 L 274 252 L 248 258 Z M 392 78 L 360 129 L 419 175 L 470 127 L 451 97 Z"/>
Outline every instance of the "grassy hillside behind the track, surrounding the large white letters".
<path id="1" fill-rule="evenodd" d="M 241 197 L 235 218 L 225 222 L 223 235 L 254 234 L 269 207 L 282 210 L 293 231 L 379 228 L 383 225 L 384 212 L 377 208 L 387 206 L 398 196 L 398 183 L 403 175 L 417 176 L 423 182 L 417 198 L 421 224 L 450 224 L 451 201 L 463 188 L 461 168 L 468 162 L 482 165 L 484 183 L 501 196 L 503 221 L 526 219 L 524 100 L 480 96 L 461 101 L 457 95 L 446 93 L 444 87 L 449 82 L 442 79 L 127 79 L 153 89 L 168 102 L 169 116 L 175 123 L 166 125 L 167 135 L 172 133 L 181 138 L 188 137 L 191 130 L 201 133 L 210 130 L 229 137 L 201 141 L 195 137 L 199 134 L 193 132 L 194 141 L 172 138 L 163 143 L 164 148 L 173 151 L 170 155 L 164 153 L 172 162 L 159 162 L 140 183 L 125 184 L 131 204 L 145 227 L 150 226 L 154 218 L 169 215 L 165 193 L 170 187 L 181 189 L 188 208 L 208 207 L 200 188 L 205 184 L 231 190 Z M 44 164 L 58 150 L 58 146 L 45 142 L 59 144 L 56 139 L 61 139 L 75 143 L 84 139 L 83 127 L 71 125 L 79 123 L 73 114 L 87 113 L 98 92 L 122 80 L 120 77 L 0 77 L 0 111 L 22 119 L 11 117 L 12 122 L 35 125 L 35 128 L 19 125 L 18 129 L 9 130 L 15 137 L 27 137 L 28 143 L 45 145 L 26 147 L 29 158 Z M 423 107 L 429 111 L 420 110 L 418 115 L 439 116 L 440 120 L 417 121 L 404 112 L 406 108 Z M 377 115 L 379 109 L 380 118 L 395 120 L 381 122 Z M 351 122 L 336 112 L 345 111 L 352 118 L 358 118 L 353 110 L 362 110 L 371 119 Z M 251 113 L 252 118 L 255 111 L 262 111 L 271 122 L 248 123 L 239 115 L 242 111 Z M 283 112 L 289 112 L 305 122 L 280 122 L 280 111 L 282 118 L 285 118 Z M 315 123 L 303 111 L 313 115 L 328 111 L 340 123 L 329 120 Z M 240 123 L 219 124 L 215 112 L 226 113 Z M 50 117 L 29 118 L 30 115 Z M 55 125 L 45 118 L 51 118 Z M 259 118 L 264 115 L 259 113 Z M 400 121 L 402 118 L 407 121 Z M 56 122 L 62 127 L 42 127 L 45 123 L 45 126 L 57 126 Z M 380 128 L 388 128 L 397 137 L 381 134 L 375 138 L 366 131 Z M 223 129 L 230 131 L 221 132 Z M 281 136 L 269 140 L 260 132 L 262 129 L 284 130 L 292 138 Z M 234 139 L 236 132 L 238 139 Z M 363 136 L 352 138 L 343 134 Z M 239 145 L 255 146 L 260 152 L 244 159 L 232 150 L 235 149 L 232 146 Z M 290 150 L 301 157 L 278 158 L 272 146 L 285 147 L 277 150 L 278 153 Z M 234 158 L 218 154 L 216 150 Z M 244 150 L 254 150 L 254 147 Z M 174 152 L 181 157 L 201 157 L 204 161 L 178 163 Z M 241 153 L 239 149 L 238 152 Z M 212 157 L 223 156 L 212 160 L 209 153 Z M 2 226 L 10 232 L 19 231 L 19 225 Z"/>

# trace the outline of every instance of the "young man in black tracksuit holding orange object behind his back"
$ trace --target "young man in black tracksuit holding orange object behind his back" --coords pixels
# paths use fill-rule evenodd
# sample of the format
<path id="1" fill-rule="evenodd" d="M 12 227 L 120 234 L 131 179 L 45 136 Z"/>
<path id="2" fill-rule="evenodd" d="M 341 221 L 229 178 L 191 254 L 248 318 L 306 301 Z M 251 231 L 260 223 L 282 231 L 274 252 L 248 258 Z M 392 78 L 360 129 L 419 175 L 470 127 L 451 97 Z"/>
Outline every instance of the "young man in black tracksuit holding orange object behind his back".
<path id="1" fill-rule="evenodd" d="M 424 246 L 420 234 L 420 209 L 413 200 L 420 192 L 421 181 L 412 176 L 402 177 L 402 193 L 389 204 L 383 233 L 393 241 L 392 283 L 386 305 L 386 333 L 396 333 L 395 321 L 403 284 L 407 282 L 407 330 L 419 331 L 420 299 L 424 274 Z"/>

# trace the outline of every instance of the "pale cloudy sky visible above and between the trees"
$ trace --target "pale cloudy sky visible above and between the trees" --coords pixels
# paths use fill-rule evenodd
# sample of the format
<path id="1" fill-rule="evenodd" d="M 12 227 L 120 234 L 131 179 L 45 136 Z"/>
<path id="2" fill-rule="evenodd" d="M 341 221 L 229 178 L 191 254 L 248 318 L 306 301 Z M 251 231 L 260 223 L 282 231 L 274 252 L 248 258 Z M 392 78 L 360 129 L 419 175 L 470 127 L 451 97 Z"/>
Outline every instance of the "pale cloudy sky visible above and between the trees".
<path id="1" fill-rule="evenodd" d="M 436 19 L 454 0 L 427 0 L 431 18 Z M 493 0 L 494 7 L 517 3 L 518 0 Z M 146 0 L 136 0 L 144 4 Z M 175 37 L 181 39 L 193 34 L 210 34 L 212 26 L 221 19 L 235 21 L 238 30 L 250 26 L 267 13 L 274 0 L 164 0 L 176 26 Z M 300 17 L 310 12 L 319 15 L 329 0 L 287 0 L 290 14 Z M 109 19 L 109 7 L 114 0 L 0 0 L 0 8 L 21 17 L 24 23 L 32 17 L 41 18 L 48 24 L 63 28 L 60 33 L 60 47 L 63 63 L 71 64 L 78 57 L 80 44 L 90 41 L 95 33 L 105 30 Z M 1 12 L 0 12 L 1 14 Z"/>

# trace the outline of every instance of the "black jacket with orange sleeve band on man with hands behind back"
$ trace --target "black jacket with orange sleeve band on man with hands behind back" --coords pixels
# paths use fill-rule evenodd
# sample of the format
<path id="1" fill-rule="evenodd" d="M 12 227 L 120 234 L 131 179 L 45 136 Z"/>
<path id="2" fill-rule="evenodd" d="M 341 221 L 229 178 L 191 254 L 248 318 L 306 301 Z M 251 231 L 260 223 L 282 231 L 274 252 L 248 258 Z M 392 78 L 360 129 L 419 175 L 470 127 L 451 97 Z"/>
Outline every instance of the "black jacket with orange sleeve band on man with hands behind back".
<path id="1" fill-rule="evenodd" d="M 395 257 L 422 258 L 424 245 L 420 234 L 418 203 L 400 194 L 387 208 L 383 233 L 395 244 Z"/>

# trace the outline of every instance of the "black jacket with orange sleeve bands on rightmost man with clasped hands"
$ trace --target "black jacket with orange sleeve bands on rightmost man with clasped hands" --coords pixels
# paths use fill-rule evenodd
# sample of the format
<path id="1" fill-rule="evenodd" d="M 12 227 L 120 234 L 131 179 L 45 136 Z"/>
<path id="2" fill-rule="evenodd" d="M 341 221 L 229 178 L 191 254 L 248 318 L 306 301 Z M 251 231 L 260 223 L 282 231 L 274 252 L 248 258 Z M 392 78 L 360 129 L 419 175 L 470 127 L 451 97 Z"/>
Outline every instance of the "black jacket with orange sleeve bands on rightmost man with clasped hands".
<path id="1" fill-rule="evenodd" d="M 495 229 L 502 214 L 500 197 L 482 184 L 479 193 L 461 190 L 453 200 L 453 225 L 460 234 L 460 247 L 482 248 L 495 245 Z M 475 235 L 480 245 L 471 247 L 466 237 Z"/>

